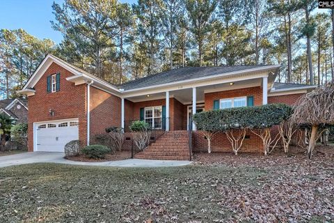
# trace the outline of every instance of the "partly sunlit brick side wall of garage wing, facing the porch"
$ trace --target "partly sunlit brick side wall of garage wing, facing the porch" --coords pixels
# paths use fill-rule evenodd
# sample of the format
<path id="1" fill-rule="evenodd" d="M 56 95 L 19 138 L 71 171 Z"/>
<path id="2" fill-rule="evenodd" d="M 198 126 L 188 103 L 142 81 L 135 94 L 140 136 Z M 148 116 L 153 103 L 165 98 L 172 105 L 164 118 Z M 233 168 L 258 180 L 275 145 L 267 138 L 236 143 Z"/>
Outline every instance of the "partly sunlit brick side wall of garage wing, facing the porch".
<path id="1" fill-rule="evenodd" d="M 90 87 L 90 137 L 105 133 L 111 126 L 120 127 L 121 99 Z"/>

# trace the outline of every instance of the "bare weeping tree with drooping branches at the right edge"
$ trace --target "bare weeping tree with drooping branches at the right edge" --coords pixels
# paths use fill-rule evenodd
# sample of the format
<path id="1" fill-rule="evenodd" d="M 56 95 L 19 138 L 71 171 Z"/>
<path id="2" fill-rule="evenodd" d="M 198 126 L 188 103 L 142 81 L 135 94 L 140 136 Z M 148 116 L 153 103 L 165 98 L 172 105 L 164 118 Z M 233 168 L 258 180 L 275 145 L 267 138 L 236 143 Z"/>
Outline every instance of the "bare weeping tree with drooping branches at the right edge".
<path id="1" fill-rule="evenodd" d="M 326 130 L 324 127 L 334 124 L 334 83 L 303 95 L 296 102 L 292 122 L 310 126 L 308 158 L 311 159 L 317 139 Z"/>

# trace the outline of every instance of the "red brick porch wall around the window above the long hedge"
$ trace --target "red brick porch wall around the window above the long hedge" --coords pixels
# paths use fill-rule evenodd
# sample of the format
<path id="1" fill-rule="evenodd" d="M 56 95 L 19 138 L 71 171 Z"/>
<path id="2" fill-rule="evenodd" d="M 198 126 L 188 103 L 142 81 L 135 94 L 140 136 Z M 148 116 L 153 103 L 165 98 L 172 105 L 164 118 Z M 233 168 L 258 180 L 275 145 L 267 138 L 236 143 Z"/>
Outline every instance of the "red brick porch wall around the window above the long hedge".
<path id="1" fill-rule="evenodd" d="M 246 89 L 234 89 L 229 91 L 218 91 L 213 93 L 205 93 L 205 111 L 214 108 L 214 100 L 223 98 L 237 98 L 243 96 L 254 96 L 254 105 L 262 105 L 262 88 L 260 86 L 250 87 Z"/>

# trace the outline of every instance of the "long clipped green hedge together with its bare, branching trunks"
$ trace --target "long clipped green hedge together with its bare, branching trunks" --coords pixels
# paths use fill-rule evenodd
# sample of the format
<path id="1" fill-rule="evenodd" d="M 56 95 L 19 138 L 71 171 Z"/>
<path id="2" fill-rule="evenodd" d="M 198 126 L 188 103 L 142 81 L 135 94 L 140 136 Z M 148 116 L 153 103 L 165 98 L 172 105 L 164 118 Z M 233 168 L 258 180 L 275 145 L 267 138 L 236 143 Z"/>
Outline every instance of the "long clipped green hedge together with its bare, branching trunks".
<path id="1" fill-rule="evenodd" d="M 250 130 L 262 139 L 264 155 L 271 153 L 278 144 L 280 134 L 271 137 L 271 128 L 287 121 L 292 114 L 292 107 L 285 104 L 271 104 L 257 107 L 235 107 L 231 109 L 200 112 L 193 116 L 198 130 L 202 130 L 211 152 L 211 139 L 217 132 L 224 132 L 237 155 Z"/>

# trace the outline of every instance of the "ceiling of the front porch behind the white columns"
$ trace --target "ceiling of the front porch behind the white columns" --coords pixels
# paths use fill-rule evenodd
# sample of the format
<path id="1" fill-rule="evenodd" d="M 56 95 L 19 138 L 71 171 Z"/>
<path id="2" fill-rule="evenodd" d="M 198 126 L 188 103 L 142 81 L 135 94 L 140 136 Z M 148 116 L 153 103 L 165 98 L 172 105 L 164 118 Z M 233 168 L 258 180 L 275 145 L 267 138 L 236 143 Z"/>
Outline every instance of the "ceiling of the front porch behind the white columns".
<path id="1" fill-rule="evenodd" d="M 257 79 L 247 79 L 239 82 L 233 82 L 224 84 L 214 84 L 209 86 L 200 86 L 196 88 L 196 99 L 198 102 L 204 101 L 204 94 L 216 91 L 229 91 L 235 89 L 244 89 L 253 86 L 261 86 L 262 78 Z M 149 95 L 138 95 L 135 97 L 126 98 L 132 102 L 142 102 L 148 100 L 158 100 L 166 98 L 166 92 L 153 93 Z M 176 98 L 182 104 L 191 104 L 192 101 L 192 89 L 179 89 L 175 91 L 170 91 L 170 98 Z"/>

